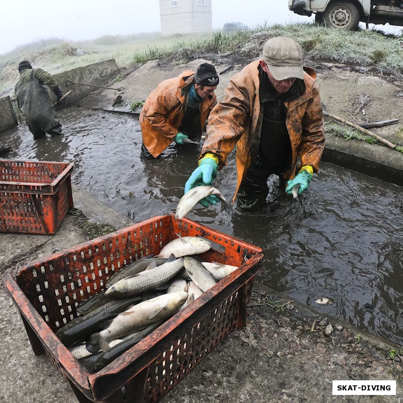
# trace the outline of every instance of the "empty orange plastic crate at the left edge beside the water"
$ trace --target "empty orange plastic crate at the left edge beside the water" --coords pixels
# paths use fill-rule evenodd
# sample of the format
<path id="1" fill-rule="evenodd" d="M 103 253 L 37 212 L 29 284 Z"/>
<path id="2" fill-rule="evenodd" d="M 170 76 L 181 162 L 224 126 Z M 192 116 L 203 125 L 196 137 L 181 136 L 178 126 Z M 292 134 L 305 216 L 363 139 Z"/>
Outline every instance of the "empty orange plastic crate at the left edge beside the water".
<path id="1" fill-rule="evenodd" d="M 73 207 L 64 162 L 0 160 L 0 232 L 54 234 Z"/>

